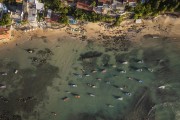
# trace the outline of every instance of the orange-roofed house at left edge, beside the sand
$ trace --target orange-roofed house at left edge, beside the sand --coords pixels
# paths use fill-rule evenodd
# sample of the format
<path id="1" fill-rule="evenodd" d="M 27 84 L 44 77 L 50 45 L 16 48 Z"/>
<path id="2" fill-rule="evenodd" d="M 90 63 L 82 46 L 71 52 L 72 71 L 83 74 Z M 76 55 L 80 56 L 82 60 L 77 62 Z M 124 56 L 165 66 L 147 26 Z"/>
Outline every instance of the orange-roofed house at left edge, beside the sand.
<path id="1" fill-rule="evenodd" d="M 0 27 L 0 40 L 6 39 L 9 40 L 11 38 L 11 29 Z"/>

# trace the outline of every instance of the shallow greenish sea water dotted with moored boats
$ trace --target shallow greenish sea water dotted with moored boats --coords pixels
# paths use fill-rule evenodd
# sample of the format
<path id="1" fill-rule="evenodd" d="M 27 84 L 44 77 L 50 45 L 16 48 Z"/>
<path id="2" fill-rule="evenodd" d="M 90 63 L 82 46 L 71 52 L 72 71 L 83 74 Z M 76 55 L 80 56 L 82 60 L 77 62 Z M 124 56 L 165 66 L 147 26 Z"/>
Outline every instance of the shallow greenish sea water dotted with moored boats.
<path id="1" fill-rule="evenodd" d="M 107 49 L 70 38 L 2 49 L 0 120 L 180 119 L 178 39 Z"/>

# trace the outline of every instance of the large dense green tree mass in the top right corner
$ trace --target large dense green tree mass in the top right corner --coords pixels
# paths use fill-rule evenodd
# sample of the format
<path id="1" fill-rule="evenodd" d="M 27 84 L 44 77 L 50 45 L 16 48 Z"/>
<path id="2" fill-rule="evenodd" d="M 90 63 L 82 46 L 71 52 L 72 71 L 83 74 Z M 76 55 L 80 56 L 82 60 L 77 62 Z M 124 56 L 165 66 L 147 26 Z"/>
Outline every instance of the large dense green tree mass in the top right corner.
<path id="1" fill-rule="evenodd" d="M 149 0 L 146 3 L 138 3 L 133 10 L 135 13 L 134 19 L 174 12 L 179 5 L 179 0 Z M 127 9 L 132 11 L 132 8 Z"/>

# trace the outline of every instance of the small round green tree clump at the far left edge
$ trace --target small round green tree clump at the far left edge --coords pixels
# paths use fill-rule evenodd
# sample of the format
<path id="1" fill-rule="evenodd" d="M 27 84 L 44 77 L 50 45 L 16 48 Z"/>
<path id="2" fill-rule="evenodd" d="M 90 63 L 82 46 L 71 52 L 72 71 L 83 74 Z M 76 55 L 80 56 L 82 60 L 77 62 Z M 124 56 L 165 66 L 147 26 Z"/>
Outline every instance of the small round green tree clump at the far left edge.
<path id="1" fill-rule="evenodd" d="M 3 14 L 3 17 L 0 20 L 0 26 L 10 25 L 10 24 L 11 24 L 10 14 L 8 13 Z"/>

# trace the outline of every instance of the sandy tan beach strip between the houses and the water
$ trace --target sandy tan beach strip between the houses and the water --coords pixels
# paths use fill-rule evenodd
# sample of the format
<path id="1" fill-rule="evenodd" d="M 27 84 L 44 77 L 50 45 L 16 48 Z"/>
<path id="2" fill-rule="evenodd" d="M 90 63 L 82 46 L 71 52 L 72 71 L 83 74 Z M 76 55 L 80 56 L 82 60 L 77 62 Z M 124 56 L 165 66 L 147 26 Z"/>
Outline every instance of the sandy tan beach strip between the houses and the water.
<path id="1" fill-rule="evenodd" d="M 78 31 L 75 31 L 76 29 Z M 150 34 L 176 39 L 180 37 L 178 33 L 180 33 L 180 18 L 163 15 L 153 20 L 143 20 L 141 24 L 136 24 L 133 20 L 127 20 L 115 28 L 108 28 L 108 25 L 105 23 L 88 23 L 83 26 L 71 25 L 60 29 L 36 29 L 29 32 L 13 30 L 12 39 L 1 40 L 0 46 L 2 49 L 7 44 L 22 44 L 31 40 L 33 36 L 47 37 L 48 39 L 64 39 L 68 37 L 81 41 L 90 40 L 101 44 L 103 41 L 106 41 L 106 37 L 118 38 L 125 36 L 129 41 L 139 43 L 144 35 Z"/>

